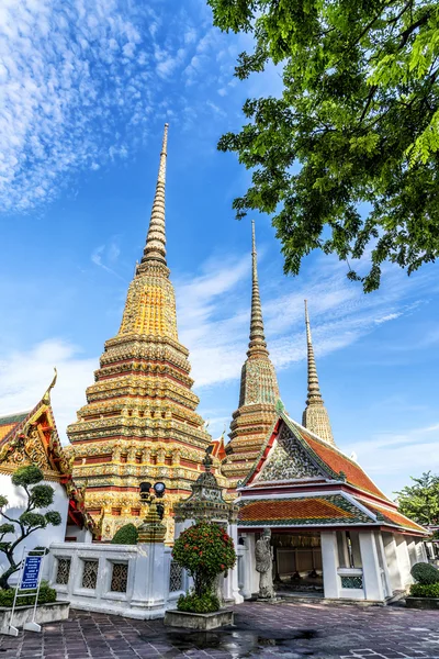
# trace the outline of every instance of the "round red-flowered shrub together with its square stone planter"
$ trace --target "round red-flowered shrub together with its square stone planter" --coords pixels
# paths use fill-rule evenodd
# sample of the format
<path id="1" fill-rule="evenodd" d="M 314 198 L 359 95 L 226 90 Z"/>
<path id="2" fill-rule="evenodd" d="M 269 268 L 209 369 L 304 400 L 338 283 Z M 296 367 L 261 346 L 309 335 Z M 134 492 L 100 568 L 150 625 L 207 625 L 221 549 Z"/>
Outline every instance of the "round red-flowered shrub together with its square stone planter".
<path id="1" fill-rule="evenodd" d="M 230 623 L 233 612 L 221 611 L 215 593 L 217 577 L 236 563 L 233 539 L 224 528 L 206 522 L 191 526 L 176 540 L 172 558 L 192 577 L 193 588 L 179 597 L 177 612 L 167 612 L 165 623 L 200 629 Z"/>

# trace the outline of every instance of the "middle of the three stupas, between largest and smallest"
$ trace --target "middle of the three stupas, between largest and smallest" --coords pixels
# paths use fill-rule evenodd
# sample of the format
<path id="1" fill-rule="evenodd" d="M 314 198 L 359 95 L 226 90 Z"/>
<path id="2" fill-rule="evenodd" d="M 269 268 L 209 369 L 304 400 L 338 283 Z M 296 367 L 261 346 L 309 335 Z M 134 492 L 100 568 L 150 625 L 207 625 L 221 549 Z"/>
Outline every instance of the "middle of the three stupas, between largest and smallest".
<path id="1" fill-rule="evenodd" d="M 275 420 L 275 403 L 279 399 L 278 379 L 269 357 L 263 332 L 254 222 L 251 233 L 250 342 L 240 376 L 239 407 L 233 413 L 230 442 L 226 446 L 227 457 L 222 467 L 230 489 L 236 488 L 254 466 Z"/>

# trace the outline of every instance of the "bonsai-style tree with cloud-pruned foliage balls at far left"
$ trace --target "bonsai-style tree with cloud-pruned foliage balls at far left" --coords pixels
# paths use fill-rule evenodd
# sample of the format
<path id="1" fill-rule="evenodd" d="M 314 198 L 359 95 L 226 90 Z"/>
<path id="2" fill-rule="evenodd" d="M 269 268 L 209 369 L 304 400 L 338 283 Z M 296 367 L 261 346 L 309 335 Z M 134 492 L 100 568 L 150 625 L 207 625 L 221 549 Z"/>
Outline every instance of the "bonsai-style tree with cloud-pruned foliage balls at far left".
<path id="1" fill-rule="evenodd" d="M 47 525 L 59 526 L 61 523 L 61 516 L 57 511 L 40 512 L 40 509 L 45 509 L 54 502 L 55 493 L 50 485 L 38 484 L 43 479 L 42 470 L 34 465 L 20 467 L 12 474 L 12 483 L 23 488 L 27 495 L 27 505 L 18 520 L 7 515 L 4 509 L 8 505 L 8 498 L 0 494 L 0 515 L 7 520 L 4 524 L 0 524 L 0 551 L 9 562 L 9 568 L 0 576 L 0 589 L 9 589 L 9 578 L 20 570 L 21 560 L 16 561 L 14 558 L 14 550 L 20 543 L 38 528 L 45 528 Z M 3 540 L 9 534 L 15 534 L 13 539 Z"/>

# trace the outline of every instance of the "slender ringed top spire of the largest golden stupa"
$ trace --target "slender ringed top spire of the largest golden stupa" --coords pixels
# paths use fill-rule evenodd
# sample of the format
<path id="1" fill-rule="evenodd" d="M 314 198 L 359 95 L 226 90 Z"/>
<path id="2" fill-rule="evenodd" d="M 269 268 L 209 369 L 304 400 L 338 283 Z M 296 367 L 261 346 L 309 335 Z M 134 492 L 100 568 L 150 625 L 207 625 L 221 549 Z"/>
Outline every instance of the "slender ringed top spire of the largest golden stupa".
<path id="1" fill-rule="evenodd" d="M 154 197 L 153 210 L 149 220 L 149 230 L 142 263 L 159 261 L 166 265 L 166 231 L 165 231 L 165 185 L 166 185 L 166 157 L 168 146 L 168 125 L 165 124 L 164 142 L 160 153 L 160 165 Z"/>

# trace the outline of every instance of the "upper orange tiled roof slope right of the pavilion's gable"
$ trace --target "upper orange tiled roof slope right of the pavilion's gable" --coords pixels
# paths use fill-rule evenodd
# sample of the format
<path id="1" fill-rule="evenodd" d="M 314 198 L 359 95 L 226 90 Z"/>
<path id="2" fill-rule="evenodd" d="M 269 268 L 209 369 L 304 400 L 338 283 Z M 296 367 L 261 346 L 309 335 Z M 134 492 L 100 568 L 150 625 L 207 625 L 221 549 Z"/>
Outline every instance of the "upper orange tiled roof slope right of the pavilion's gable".
<path id="1" fill-rule="evenodd" d="M 306 444 L 333 471 L 336 473 L 339 473 L 340 471 L 346 473 L 348 483 L 357 485 L 358 488 L 361 488 L 361 490 L 365 490 L 372 494 L 376 494 L 376 496 L 380 496 L 381 499 L 387 500 L 385 494 L 378 489 L 374 482 L 372 482 L 369 476 L 361 469 L 359 465 L 357 465 L 357 462 L 350 460 L 339 450 L 329 446 L 329 444 L 326 444 L 326 442 L 312 437 L 296 425 L 295 431 L 300 433 L 301 437 L 306 442 Z"/>

